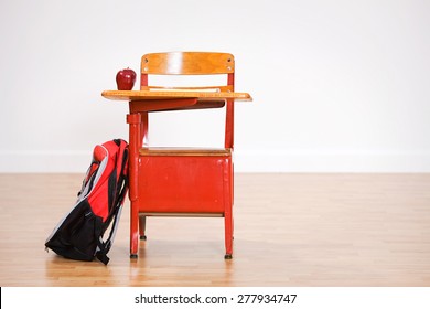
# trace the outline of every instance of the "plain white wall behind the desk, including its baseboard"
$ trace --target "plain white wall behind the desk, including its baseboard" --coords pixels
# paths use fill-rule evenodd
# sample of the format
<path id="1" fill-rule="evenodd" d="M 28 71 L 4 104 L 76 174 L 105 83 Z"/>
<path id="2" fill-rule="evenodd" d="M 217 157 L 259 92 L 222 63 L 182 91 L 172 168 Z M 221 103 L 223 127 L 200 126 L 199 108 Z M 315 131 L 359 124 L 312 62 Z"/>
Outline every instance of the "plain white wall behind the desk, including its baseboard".
<path id="1" fill-rule="evenodd" d="M 95 143 L 128 138 L 127 104 L 100 96 L 116 72 L 181 50 L 236 56 L 237 90 L 254 96 L 237 104 L 236 171 L 430 172 L 428 12 L 423 0 L 1 0 L 0 172 L 84 172 Z M 182 115 L 157 119 L 152 140 L 207 141 Z"/>

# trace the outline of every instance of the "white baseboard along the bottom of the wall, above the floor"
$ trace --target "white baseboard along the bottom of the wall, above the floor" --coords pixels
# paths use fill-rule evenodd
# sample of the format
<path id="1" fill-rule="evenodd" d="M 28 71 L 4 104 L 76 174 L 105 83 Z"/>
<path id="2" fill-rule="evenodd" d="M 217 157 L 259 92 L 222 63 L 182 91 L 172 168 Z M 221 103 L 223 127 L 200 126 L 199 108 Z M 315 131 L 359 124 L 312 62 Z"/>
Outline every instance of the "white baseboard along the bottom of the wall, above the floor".
<path id="1" fill-rule="evenodd" d="M 0 172 L 84 173 L 90 152 L 0 152 Z M 430 153 L 235 150 L 236 172 L 430 172 Z"/>

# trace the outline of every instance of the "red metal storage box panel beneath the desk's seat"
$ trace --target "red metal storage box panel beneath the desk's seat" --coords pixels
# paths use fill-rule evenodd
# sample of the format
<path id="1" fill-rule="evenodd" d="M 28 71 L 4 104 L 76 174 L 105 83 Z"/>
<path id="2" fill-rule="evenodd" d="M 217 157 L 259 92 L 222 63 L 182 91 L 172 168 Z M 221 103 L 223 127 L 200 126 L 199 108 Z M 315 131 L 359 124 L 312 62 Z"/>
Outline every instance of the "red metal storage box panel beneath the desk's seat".
<path id="1" fill-rule="evenodd" d="M 230 157 L 140 157 L 139 212 L 223 214 L 230 199 Z"/>

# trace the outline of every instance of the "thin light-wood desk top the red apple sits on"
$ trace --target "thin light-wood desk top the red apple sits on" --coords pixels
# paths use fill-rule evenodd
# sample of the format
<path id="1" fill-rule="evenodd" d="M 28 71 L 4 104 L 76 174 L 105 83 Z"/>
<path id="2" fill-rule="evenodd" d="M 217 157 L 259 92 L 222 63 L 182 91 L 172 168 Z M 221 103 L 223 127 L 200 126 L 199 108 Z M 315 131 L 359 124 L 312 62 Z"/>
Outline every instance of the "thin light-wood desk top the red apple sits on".
<path id="1" fill-rule="evenodd" d="M 148 99 L 178 99 L 178 98 L 197 98 L 198 100 L 252 100 L 247 93 L 227 93 L 227 92 L 194 92 L 194 90 L 105 90 L 101 96 L 115 100 L 148 100 Z"/>

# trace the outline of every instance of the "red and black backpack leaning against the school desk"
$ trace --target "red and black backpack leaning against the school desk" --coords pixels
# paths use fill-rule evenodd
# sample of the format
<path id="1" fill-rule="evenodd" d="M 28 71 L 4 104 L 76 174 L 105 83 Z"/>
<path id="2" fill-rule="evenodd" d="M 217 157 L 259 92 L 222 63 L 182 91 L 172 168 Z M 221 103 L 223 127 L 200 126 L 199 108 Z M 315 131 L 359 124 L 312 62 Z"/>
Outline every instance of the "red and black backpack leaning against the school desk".
<path id="1" fill-rule="evenodd" d="M 78 199 L 45 242 L 46 251 L 78 260 L 95 257 L 107 265 L 128 192 L 128 143 L 114 139 L 97 145 Z M 104 234 L 111 226 L 109 236 Z"/>

